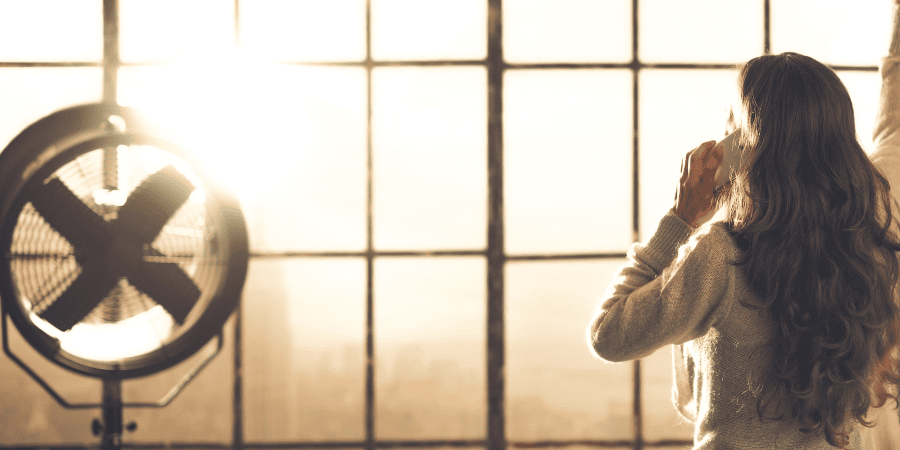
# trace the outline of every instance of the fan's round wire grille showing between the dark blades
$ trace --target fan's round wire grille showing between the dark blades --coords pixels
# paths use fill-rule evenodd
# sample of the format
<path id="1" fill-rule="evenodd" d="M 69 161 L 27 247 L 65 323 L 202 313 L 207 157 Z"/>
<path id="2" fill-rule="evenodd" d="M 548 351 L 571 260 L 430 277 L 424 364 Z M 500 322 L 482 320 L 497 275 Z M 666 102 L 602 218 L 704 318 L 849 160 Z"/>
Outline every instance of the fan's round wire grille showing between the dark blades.
<path id="1" fill-rule="evenodd" d="M 114 173 L 109 173 L 108 156 L 104 160 L 104 152 L 110 151 L 118 156 L 119 164 L 112 168 Z M 227 249 L 220 248 L 216 217 L 208 214 L 215 205 L 209 204 L 202 183 L 183 160 L 149 146 L 96 149 L 66 163 L 49 178 L 58 178 L 93 212 L 112 221 L 117 218 L 122 200 L 156 172 L 158 166 L 171 162 L 191 180 L 196 190 L 169 218 L 153 242 L 144 246 L 143 259 L 174 262 L 187 274 L 204 293 L 193 305 L 191 311 L 194 312 L 202 310 L 208 303 L 209 295 L 205 291 L 219 282 L 226 258 L 222 252 Z M 111 186 L 110 180 L 117 186 Z M 78 250 L 41 216 L 32 203 L 26 203 L 19 211 L 8 258 L 19 300 L 26 312 L 33 313 L 33 321 L 40 320 L 35 315 L 39 316 L 53 305 L 83 271 L 78 262 Z M 153 298 L 123 277 L 79 323 L 119 324 L 156 307 Z M 153 327 L 160 345 L 173 339 L 179 327 L 187 328 L 192 319 L 189 315 L 187 321 L 178 325 L 172 323 L 167 314 L 156 315 L 163 317 L 154 319 L 160 324 Z"/>

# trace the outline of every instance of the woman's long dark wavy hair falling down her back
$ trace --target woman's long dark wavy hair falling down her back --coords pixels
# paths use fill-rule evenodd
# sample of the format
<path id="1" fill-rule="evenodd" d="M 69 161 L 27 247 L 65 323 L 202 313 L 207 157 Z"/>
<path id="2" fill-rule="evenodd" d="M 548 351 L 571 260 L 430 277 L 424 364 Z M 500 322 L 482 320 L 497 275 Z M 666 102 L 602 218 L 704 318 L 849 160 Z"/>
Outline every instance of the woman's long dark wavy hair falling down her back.
<path id="1" fill-rule="evenodd" d="M 900 251 L 890 186 L 856 139 L 834 71 L 796 53 L 740 68 L 742 168 L 725 194 L 742 266 L 775 323 L 757 396 L 761 420 L 789 420 L 829 444 L 870 407 L 898 402 Z"/>

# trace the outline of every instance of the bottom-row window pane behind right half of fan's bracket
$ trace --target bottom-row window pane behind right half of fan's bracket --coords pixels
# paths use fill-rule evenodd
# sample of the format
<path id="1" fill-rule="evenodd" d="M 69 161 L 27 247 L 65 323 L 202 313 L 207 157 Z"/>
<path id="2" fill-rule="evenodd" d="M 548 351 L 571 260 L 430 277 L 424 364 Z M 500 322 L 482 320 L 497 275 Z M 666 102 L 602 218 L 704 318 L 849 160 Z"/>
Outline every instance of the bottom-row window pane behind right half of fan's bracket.
<path id="1" fill-rule="evenodd" d="M 246 334 L 245 334 L 246 336 Z M 137 429 L 125 433 L 125 443 L 212 441 L 230 442 L 234 426 L 234 318 L 223 328 L 221 352 L 204 367 L 175 400 L 165 408 L 126 408 L 125 424 Z M 122 383 L 126 402 L 157 402 L 178 385 L 181 378 L 215 352 L 216 339 L 194 356 L 171 369 Z M 99 417 L 99 411 L 94 415 Z M 185 418 L 190 420 L 185 420 Z M 84 428 L 89 428 L 84 423 Z M 92 440 L 95 440 L 94 438 Z M 92 440 L 88 440 L 91 442 Z"/>

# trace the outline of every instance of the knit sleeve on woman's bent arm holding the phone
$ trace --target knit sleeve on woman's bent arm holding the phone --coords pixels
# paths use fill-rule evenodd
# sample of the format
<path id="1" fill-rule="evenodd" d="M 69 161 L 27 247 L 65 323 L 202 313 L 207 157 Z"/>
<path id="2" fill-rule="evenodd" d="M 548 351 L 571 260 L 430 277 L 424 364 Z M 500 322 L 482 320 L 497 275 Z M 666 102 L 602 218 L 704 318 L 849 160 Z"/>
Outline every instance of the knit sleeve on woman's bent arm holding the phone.
<path id="1" fill-rule="evenodd" d="M 728 308 L 729 253 L 723 230 L 693 230 L 671 211 L 646 245 L 634 244 L 628 263 L 597 306 L 588 327 L 594 352 L 627 361 L 703 336 Z"/>

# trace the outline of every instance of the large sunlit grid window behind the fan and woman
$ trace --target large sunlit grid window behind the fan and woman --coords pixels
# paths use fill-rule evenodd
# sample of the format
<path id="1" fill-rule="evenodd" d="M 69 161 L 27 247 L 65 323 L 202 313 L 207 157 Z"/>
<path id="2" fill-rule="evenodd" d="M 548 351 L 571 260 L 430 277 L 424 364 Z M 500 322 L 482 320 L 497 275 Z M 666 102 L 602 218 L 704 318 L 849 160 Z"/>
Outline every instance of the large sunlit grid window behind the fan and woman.
<path id="1" fill-rule="evenodd" d="M 736 64 L 834 66 L 871 150 L 890 4 L 0 0 L 0 145 L 112 95 L 171 120 L 241 199 L 225 350 L 168 407 L 126 409 L 126 446 L 683 448 L 669 347 L 592 357 L 595 301 L 683 154 L 722 135 Z M 97 380 L 12 345 L 97 401 Z M 0 380 L 0 444 L 97 441 L 99 411 L 5 357 Z"/>

